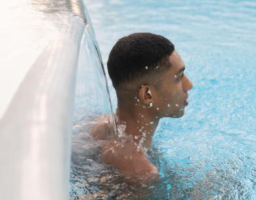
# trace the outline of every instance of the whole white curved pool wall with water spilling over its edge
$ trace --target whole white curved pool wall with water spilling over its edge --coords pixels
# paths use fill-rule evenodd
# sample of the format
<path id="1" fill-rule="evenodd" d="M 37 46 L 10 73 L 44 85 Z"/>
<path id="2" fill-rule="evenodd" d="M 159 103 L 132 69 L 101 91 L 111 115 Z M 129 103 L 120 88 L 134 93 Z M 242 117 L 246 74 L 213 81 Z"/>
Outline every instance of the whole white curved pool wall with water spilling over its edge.
<path id="1" fill-rule="evenodd" d="M 83 3 L 23 0 L 2 8 L 0 199 L 68 199 Z"/>

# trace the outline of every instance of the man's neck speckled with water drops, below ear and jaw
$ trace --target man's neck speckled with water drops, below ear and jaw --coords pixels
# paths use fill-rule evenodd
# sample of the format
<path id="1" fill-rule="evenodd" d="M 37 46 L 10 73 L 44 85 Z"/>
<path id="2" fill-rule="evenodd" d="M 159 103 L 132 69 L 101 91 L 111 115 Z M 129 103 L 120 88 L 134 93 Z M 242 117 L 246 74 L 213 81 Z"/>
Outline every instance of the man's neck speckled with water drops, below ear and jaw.
<path id="1" fill-rule="evenodd" d="M 153 116 L 150 108 L 143 105 L 119 106 L 117 108 L 117 126 L 125 125 L 125 134 L 133 136 L 133 140 L 142 148 L 150 148 L 154 132 L 158 127 L 159 118 Z M 129 106 L 128 106 L 129 107 Z M 118 127 L 117 127 L 118 128 Z"/>

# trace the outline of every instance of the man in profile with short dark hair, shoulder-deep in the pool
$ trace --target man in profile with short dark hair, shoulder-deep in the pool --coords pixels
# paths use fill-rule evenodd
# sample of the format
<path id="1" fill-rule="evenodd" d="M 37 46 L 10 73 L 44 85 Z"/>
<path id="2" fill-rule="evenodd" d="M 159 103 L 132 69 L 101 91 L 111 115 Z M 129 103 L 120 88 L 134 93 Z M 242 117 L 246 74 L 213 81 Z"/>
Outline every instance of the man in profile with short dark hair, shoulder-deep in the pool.
<path id="1" fill-rule="evenodd" d="M 125 176 L 142 181 L 158 178 L 146 157 L 162 117 L 182 117 L 192 83 L 171 41 L 152 33 L 133 33 L 117 41 L 108 58 L 108 73 L 117 94 L 116 136 L 109 138 L 108 117 L 91 134 L 109 140 L 102 161 Z"/>

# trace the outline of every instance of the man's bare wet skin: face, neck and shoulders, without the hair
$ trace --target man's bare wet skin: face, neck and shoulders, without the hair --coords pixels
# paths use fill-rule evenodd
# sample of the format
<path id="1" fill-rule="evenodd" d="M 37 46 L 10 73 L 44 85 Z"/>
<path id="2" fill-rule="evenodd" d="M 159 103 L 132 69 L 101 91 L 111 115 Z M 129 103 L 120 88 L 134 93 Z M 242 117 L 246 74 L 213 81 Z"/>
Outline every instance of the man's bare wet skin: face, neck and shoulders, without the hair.
<path id="1" fill-rule="evenodd" d="M 125 176 L 143 182 L 158 179 L 158 169 L 150 163 L 145 150 L 152 144 L 159 120 L 161 117 L 182 117 L 188 104 L 188 90 L 193 87 L 184 75 L 184 63 L 176 50 L 169 56 L 169 62 L 171 68 L 165 73 L 144 77 L 116 90 L 116 125 L 125 125 L 125 134 L 130 139 L 120 142 L 120 138 L 108 137 L 113 131 L 109 117 L 102 117 L 91 130 L 96 140 L 109 141 L 102 148 L 102 161 Z M 152 108 L 148 108 L 150 102 Z"/>

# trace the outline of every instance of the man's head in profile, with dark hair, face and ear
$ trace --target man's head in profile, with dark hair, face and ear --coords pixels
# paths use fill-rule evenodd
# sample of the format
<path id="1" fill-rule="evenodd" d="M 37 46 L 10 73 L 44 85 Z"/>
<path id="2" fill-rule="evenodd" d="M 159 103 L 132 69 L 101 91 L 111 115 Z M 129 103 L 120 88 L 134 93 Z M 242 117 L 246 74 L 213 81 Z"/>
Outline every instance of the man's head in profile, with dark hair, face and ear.
<path id="1" fill-rule="evenodd" d="M 181 117 L 192 83 L 171 41 L 152 33 L 119 39 L 108 58 L 118 104 L 144 108 L 158 117 Z M 153 103 L 152 108 L 148 105 Z"/>

